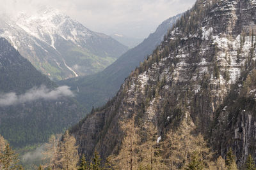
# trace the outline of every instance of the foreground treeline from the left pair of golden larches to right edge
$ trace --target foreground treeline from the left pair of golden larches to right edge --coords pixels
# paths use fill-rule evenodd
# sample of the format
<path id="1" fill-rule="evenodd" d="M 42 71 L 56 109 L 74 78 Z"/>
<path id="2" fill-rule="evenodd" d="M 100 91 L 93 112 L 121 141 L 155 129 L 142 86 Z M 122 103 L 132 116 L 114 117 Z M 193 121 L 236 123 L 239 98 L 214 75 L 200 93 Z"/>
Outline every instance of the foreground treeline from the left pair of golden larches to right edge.
<path id="1" fill-rule="evenodd" d="M 236 156 L 231 148 L 225 159 L 207 146 L 203 136 L 196 134 L 191 120 L 182 119 L 177 129 L 166 131 L 164 136 L 157 136 L 156 126 L 147 122 L 138 126 L 134 117 L 120 122 L 124 138 L 118 150 L 106 160 L 100 159 L 95 151 L 92 159 L 84 155 L 79 159 L 76 139 L 65 132 L 60 138 L 52 136 L 44 152 L 47 164 L 38 169 L 186 169 L 186 170 L 236 170 Z M 255 169 L 255 162 L 250 155 L 243 169 Z"/>

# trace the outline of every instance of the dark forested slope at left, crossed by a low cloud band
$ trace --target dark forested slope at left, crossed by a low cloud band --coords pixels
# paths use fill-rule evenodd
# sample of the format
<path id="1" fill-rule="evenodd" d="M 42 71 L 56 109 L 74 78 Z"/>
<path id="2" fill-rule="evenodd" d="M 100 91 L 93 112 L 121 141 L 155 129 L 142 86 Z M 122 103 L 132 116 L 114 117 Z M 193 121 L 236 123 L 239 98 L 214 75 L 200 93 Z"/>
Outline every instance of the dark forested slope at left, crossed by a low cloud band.
<path id="1" fill-rule="evenodd" d="M 19 96 L 42 85 L 47 90 L 57 87 L 47 76 L 36 71 L 6 39 L 0 38 L 0 93 L 15 92 Z M 56 99 L 52 94 L 52 99 L 33 100 L 33 95 L 30 92 L 27 96 L 31 101 L 0 106 L 0 134 L 16 148 L 44 143 L 51 134 L 63 132 L 85 116 L 86 110 L 71 97 Z M 8 100 L 12 97 L 1 96 L 1 103 Z"/>

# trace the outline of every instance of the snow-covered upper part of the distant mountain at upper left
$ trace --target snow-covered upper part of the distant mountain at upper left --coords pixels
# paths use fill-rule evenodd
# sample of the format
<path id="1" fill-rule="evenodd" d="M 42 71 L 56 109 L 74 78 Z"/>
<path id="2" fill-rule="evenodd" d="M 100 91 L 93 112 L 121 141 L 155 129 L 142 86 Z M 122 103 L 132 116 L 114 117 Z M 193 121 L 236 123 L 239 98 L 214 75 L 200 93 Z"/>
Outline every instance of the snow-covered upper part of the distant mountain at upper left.
<path id="1" fill-rule="evenodd" d="M 45 41 L 53 48 L 55 48 L 56 36 L 80 45 L 78 36 L 88 38 L 92 35 L 92 32 L 83 25 L 79 25 L 78 22 L 61 13 L 60 10 L 50 7 L 44 8 L 44 10 L 40 9 L 35 15 L 30 16 L 26 13 L 20 13 L 16 23 L 28 34 Z"/>

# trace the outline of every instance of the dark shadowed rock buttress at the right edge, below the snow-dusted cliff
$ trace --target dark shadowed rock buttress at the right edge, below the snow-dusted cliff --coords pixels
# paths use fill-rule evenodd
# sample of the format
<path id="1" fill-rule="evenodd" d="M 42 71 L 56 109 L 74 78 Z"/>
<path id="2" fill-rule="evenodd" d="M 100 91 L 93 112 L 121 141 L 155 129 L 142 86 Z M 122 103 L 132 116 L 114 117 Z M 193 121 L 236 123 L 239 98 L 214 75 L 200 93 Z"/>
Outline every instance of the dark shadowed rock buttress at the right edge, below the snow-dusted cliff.
<path id="1" fill-rule="evenodd" d="M 252 60 L 250 67 L 255 67 L 255 60 Z M 225 101 L 216 111 L 212 124 L 212 142 L 216 144 L 216 150 L 225 155 L 227 148 L 232 147 L 240 166 L 249 154 L 255 157 L 256 72 L 250 67 L 232 86 Z"/>

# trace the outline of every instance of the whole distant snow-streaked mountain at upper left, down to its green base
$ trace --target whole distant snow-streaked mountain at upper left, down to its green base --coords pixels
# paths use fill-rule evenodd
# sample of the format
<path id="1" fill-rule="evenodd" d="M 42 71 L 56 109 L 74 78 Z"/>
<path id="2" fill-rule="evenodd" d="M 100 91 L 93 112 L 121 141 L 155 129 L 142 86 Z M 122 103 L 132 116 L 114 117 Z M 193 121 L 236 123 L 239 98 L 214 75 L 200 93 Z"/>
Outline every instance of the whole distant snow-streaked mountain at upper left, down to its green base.
<path id="1" fill-rule="evenodd" d="M 52 80 L 97 73 L 128 49 L 50 7 L 31 16 L 1 17 L 0 36 Z"/>

